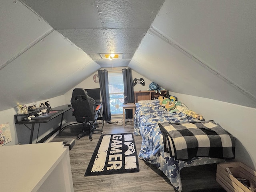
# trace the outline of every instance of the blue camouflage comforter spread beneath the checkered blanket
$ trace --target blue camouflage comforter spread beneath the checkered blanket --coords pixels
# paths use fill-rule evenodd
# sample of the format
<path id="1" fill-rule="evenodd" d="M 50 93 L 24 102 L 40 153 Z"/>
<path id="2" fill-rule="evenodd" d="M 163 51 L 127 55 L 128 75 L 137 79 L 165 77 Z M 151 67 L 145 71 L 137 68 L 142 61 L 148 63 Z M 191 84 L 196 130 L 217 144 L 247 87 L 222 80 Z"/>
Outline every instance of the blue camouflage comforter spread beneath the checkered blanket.
<path id="1" fill-rule="evenodd" d="M 171 184 L 178 191 L 182 190 L 180 170 L 185 166 L 195 166 L 220 162 L 215 158 L 192 158 L 189 161 L 175 160 L 164 152 L 163 136 L 158 123 L 188 122 L 196 120 L 182 112 L 170 113 L 160 106 L 159 100 L 149 104 L 136 103 L 134 116 L 134 134 L 142 136 L 142 146 L 139 158 L 155 165 L 170 179 Z"/>

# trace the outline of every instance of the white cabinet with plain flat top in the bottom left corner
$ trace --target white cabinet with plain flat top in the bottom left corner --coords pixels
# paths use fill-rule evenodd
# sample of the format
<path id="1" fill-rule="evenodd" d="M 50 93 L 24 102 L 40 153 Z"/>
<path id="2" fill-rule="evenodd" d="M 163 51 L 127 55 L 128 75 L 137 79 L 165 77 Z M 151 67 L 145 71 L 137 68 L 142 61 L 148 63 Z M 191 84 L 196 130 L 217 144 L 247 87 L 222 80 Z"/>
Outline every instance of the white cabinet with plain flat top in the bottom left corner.
<path id="1" fill-rule="evenodd" d="M 68 147 L 62 142 L 0 147 L 3 192 L 73 192 Z"/>

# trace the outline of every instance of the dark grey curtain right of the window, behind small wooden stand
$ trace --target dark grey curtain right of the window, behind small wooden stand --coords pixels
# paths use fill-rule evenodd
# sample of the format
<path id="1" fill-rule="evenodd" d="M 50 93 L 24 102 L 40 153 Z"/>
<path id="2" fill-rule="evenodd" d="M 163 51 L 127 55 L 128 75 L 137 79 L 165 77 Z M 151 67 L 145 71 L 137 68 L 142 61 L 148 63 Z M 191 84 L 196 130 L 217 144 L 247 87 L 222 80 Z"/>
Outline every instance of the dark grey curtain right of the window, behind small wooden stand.
<path id="1" fill-rule="evenodd" d="M 134 90 L 132 86 L 132 70 L 122 69 L 124 80 L 124 102 L 134 103 Z M 132 118 L 132 109 L 126 110 L 126 119 Z"/>

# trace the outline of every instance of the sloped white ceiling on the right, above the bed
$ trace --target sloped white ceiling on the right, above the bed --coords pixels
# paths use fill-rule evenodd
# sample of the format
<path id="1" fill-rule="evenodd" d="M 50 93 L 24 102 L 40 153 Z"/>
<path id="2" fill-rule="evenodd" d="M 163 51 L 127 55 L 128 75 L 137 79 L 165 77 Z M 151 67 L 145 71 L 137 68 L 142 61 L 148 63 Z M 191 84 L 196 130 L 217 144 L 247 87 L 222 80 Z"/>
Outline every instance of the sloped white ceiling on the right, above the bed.
<path id="1" fill-rule="evenodd" d="M 173 92 L 256 107 L 256 1 L 166 0 L 130 68 Z"/>

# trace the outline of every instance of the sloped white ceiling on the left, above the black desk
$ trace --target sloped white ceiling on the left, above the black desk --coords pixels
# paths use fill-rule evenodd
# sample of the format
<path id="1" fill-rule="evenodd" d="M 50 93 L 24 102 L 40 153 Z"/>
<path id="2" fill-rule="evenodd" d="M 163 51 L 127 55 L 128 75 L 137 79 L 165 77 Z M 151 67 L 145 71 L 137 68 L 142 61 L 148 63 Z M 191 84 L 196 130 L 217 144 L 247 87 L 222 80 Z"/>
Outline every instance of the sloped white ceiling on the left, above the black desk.
<path id="1" fill-rule="evenodd" d="M 0 110 L 60 96 L 100 69 L 22 3 L 0 9 Z"/>

